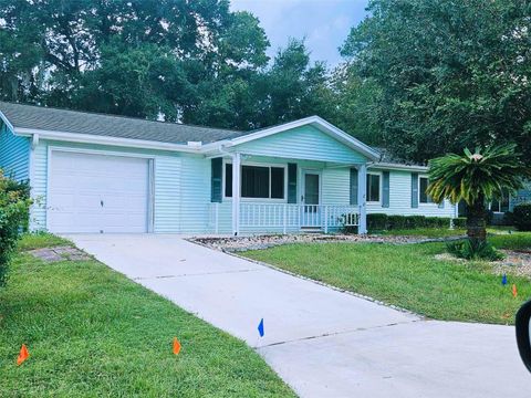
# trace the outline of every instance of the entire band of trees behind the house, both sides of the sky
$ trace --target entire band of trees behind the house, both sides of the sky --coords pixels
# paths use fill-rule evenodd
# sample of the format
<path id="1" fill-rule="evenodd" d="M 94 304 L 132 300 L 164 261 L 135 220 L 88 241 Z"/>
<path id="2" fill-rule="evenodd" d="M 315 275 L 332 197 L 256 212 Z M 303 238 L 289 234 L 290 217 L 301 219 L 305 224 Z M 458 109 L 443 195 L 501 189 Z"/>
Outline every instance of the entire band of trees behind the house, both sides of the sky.
<path id="1" fill-rule="evenodd" d="M 320 115 L 427 161 L 531 157 L 531 0 L 371 0 L 330 69 L 229 0 L 0 0 L 0 100 L 236 129 Z"/>

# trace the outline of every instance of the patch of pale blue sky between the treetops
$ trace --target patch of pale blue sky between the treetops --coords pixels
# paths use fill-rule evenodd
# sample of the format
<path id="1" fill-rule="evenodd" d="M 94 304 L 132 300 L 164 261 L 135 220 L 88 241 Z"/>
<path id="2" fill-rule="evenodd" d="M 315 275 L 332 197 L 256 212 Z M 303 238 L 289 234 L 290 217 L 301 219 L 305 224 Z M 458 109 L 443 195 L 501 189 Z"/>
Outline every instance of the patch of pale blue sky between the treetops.
<path id="1" fill-rule="evenodd" d="M 260 19 L 271 42 L 269 56 L 285 46 L 289 38 L 306 38 L 312 60 L 335 66 L 342 61 L 337 48 L 351 28 L 363 20 L 367 3 L 368 0 L 231 0 L 231 9 L 250 11 Z"/>

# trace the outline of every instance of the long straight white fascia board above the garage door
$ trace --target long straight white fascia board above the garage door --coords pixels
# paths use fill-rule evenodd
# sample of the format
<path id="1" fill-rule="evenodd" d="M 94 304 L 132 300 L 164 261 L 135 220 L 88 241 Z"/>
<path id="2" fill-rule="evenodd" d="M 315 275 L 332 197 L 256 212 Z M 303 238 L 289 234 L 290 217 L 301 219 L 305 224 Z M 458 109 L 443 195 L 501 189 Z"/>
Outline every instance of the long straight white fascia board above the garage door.
<path id="1" fill-rule="evenodd" d="M 188 145 L 157 143 L 144 139 L 132 138 L 118 138 L 107 136 L 96 136 L 91 134 L 76 134 L 76 133 L 63 133 L 53 130 L 41 130 L 33 128 L 15 128 L 14 133 L 20 136 L 33 136 L 38 134 L 40 139 L 50 139 L 69 143 L 83 143 L 83 144 L 98 144 L 98 145 L 112 145 L 123 146 L 129 148 L 139 149 L 157 149 L 157 150 L 170 150 L 170 151 L 185 151 L 191 154 L 200 154 L 201 148 L 190 147 Z"/>

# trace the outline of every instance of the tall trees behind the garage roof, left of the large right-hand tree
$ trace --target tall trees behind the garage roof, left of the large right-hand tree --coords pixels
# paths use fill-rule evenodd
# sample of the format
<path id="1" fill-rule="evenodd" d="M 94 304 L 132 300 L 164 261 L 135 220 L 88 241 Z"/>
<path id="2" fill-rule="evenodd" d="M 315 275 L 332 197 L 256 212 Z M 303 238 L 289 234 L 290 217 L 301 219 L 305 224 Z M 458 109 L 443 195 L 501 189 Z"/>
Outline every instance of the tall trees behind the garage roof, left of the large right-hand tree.
<path id="1" fill-rule="evenodd" d="M 324 114 L 325 65 L 269 45 L 228 0 L 0 0 L 0 98 L 240 129 Z"/>

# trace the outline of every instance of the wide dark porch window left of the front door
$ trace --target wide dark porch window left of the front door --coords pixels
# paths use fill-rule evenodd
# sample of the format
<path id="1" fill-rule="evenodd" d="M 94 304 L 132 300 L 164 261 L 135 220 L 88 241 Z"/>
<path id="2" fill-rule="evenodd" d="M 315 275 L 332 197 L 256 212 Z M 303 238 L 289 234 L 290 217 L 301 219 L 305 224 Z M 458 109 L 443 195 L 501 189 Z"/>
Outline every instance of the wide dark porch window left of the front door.
<path id="1" fill-rule="evenodd" d="M 225 165 L 225 196 L 232 197 L 232 165 Z M 241 166 L 241 197 L 260 199 L 285 198 L 285 168 Z"/>

